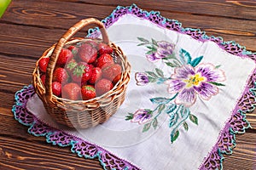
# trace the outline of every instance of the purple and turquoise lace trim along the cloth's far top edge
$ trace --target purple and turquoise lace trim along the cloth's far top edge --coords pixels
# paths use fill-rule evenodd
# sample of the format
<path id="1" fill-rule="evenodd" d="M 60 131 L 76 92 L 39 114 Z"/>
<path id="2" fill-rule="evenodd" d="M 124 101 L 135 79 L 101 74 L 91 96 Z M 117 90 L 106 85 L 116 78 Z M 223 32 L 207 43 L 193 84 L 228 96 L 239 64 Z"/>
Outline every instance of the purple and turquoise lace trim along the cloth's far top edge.
<path id="1" fill-rule="evenodd" d="M 113 13 L 110 14 L 106 19 L 102 20 L 105 27 L 108 28 L 112 26 L 113 23 L 125 14 L 133 14 L 138 18 L 142 18 L 144 20 L 150 20 L 154 24 L 158 26 L 162 26 L 172 31 L 177 31 L 183 34 L 187 34 L 190 37 L 195 38 L 201 42 L 212 41 L 218 44 L 220 48 L 223 48 L 230 54 L 236 54 L 241 57 L 248 57 L 256 61 L 256 53 L 252 53 L 246 50 L 245 47 L 240 46 L 236 42 L 224 42 L 222 37 L 208 37 L 205 31 L 201 31 L 200 29 L 192 29 L 192 28 L 183 28 L 182 24 L 177 20 L 166 19 L 165 17 L 160 15 L 159 11 L 145 11 L 141 8 L 138 8 L 136 4 L 132 4 L 130 7 L 121 7 L 118 6 L 113 10 Z M 89 36 L 97 37 L 99 35 L 99 31 L 97 29 L 90 29 Z"/>

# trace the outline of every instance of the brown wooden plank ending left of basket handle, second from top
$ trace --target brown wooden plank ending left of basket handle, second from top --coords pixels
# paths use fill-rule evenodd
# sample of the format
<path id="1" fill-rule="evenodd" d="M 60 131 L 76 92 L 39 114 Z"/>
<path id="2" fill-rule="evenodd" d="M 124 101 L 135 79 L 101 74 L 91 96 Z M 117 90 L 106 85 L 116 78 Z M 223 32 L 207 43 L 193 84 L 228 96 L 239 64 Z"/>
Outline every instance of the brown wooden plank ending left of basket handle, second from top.
<path id="1" fill-rule="evenodd" d="M 0 24 L 0 30 L 0 54 L 28 59 L 38 59 L 65 32 L 10 24 Z"/>

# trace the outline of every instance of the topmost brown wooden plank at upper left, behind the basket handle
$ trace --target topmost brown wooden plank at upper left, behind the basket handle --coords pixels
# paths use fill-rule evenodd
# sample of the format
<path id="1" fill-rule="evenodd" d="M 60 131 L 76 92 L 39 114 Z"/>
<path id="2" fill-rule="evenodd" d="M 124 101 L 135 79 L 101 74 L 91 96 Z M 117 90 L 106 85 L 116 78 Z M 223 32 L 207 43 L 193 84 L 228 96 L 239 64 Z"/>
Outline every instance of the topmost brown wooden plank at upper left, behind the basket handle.
<path id="1" fill-rule="evenodd" d="M 3 15 L 2 22 L 24 26 L 39 26 L 48 29 L 67 29 L 84 18 L 96 17 L 101 19 L 107 17 L 106 12 L 110 14 L 113 7 L 108 7 L 108 11 L 106 9 L 104 6 L 60 3 L 50 0 L 45 0 L 44 2 L 30 1 L 29 6 L 27 6 L 26 1 L 17 0 L 12 2 L 7 12 Z"/>

